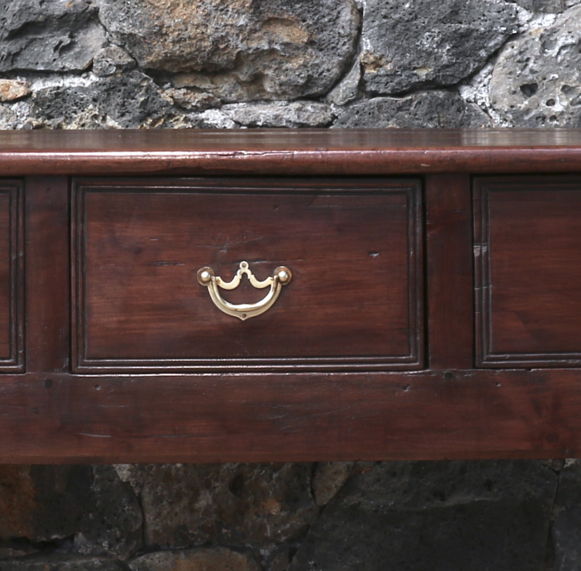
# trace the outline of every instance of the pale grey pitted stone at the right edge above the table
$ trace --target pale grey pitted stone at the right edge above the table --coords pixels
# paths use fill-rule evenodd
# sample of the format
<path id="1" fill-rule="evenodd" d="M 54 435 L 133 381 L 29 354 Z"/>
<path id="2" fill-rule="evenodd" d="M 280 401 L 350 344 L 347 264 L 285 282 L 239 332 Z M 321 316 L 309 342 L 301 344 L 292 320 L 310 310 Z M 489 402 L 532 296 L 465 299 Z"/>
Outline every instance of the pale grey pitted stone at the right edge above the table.
<path id="1" fill-rule="evenodd" d="M 581 127 L 581 6 L 522 34 L 498 56 L 490 103 L 518 127 Z"/>

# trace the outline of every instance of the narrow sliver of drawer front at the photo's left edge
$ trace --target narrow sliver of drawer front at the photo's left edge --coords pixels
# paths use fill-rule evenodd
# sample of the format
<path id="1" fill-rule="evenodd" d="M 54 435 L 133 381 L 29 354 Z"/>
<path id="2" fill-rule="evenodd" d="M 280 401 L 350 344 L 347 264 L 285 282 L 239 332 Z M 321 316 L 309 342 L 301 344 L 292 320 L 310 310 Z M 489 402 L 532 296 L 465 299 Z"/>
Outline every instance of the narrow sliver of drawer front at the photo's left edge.
<path id="1" fill-rule="evenodd" d="M 20 181 L 0 181 L 0 371 L 23 370 L 23 210 Z"/>

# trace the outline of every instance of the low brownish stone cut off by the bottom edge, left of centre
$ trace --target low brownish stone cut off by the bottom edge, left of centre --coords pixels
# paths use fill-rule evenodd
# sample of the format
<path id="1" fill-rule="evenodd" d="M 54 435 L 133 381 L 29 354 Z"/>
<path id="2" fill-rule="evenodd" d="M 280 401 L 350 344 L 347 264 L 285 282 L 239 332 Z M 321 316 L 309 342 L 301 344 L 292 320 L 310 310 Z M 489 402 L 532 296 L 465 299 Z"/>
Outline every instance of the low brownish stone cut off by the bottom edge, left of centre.
<path id="1" fill-rule="evenodd" d="M 151 553 L 129 566 L 132 571 L 260 571 L 252 555 L 225 547 Z"/>

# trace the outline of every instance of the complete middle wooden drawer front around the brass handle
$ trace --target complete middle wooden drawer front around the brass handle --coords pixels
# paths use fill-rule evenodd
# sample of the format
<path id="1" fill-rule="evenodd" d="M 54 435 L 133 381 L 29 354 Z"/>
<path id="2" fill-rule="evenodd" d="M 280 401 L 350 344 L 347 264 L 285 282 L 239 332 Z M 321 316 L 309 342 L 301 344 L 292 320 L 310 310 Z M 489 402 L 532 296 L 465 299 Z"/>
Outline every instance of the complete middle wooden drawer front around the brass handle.
<path id="1" fill-rule="evenodd" d="M 76 179 L 73 367 L 91 371 L 418 369 L 417 179 Z M 260 315 L 198 282 L 292 280 Z M 270 292 L 219 289 L 234 306 Z"/>

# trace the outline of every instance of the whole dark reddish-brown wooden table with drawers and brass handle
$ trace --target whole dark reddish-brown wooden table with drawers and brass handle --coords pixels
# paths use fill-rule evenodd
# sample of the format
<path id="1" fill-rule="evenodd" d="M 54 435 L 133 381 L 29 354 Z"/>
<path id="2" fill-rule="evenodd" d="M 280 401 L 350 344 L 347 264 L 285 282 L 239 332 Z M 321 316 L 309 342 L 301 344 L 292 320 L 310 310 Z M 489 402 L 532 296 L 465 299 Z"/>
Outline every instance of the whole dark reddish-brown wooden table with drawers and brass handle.
<path id="1" fill-rule="evenodd" d="M 581 454 L 581 130 L 4 131 L 0 177 L 0 462 Z"/>

